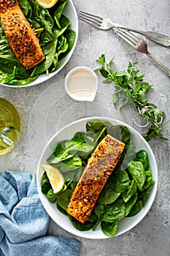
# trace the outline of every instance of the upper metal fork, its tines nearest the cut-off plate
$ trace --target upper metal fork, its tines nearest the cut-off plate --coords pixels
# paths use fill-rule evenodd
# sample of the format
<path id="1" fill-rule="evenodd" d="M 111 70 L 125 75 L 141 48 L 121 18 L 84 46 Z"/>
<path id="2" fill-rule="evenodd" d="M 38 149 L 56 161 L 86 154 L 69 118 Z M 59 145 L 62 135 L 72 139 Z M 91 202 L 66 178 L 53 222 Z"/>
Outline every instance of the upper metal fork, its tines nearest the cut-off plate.
<path id="1" fill-rule="evenodd" d="M 109 20 L 108 18 L 102 18 L 98 15 L 93 15 L 88 12 L 80 11 L 78 13 L 78 18 L 80 18 L 80 20 L 83 20 L 86 23 L 94 26 L 97 29 L 102 29 L 102 30 L 108 30 L 108 29 L 112 29 L 112 28 L 128 29 L 128 30 L 134 31 L 138 34 L 142 34 L 147 39 L 157 42 L 160 45 L 163 45 L 166 47 L 170 46 L 170 37 L 168 37 L 164 34 L 159 34 L 159 33 L 152 32 L 152 31 L 140 31 L 140 30 L 136 30 L 136 29 L 131 29 L 131 28 L 125 27 L 123 25 L 120 25 L 118 23 L 113 23 L 112 20 Z"/>

